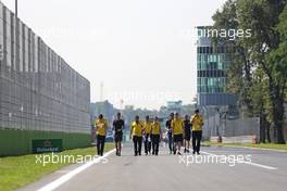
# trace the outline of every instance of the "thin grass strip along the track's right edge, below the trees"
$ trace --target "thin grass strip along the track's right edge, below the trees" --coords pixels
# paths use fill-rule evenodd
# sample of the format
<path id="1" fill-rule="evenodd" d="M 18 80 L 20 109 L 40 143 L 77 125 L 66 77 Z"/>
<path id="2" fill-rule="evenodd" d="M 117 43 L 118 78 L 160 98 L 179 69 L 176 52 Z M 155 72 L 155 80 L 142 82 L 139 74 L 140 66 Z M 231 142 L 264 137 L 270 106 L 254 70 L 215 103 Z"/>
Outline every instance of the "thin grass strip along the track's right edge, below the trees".
<path id="1" fill-rule="evenodd" d="M 251 144 L 251 143 L 217 143 L 217 142 L 203 142 L 203 145 L 229 145 L 229 147 L 247 147 L 247 148 L 259 148 L 259 149 L 271 149 L 271 150 L 282 150 L 287 151 L 287 144 L 276 144 L 276 143 L 259 143 L 259 144 Z"/>

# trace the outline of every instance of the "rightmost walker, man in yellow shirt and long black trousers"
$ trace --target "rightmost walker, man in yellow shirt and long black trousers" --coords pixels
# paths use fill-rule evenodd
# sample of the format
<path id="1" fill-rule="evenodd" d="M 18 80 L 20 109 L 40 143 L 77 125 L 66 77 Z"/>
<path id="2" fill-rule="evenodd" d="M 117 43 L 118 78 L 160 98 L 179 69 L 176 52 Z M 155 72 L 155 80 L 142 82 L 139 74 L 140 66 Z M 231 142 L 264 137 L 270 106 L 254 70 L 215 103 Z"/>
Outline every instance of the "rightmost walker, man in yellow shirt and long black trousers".
<path id="1" fill-rule="evenodd" d="M 194 154 L 196 152 L 200 154 L 200 142 L 202 139 L 202 127 L 203 127 L 203 117 L 199 115 L 199 110 L 195 111 L 195 115 L 191 116 L 190 119 L 191 126 L 192 126 L 192 148 L 194 148 Z"/>

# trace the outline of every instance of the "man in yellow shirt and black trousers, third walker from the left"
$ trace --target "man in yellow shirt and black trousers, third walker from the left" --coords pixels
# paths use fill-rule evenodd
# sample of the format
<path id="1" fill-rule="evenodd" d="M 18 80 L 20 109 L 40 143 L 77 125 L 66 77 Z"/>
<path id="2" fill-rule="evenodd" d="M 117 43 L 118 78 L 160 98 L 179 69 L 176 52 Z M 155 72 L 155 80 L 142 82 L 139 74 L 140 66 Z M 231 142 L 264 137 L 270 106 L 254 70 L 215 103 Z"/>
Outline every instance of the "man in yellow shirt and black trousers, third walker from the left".
<path id="1" fill-rule="evenodd" d="M 135 122 L 130 125 L 130 136 L 129 139 L 133 139 L 135 156 L 141 155 L 141 144 L 142 144 L 142 131 L 144 125 L 139 122 L 139 116 L 135 117 Z"/>

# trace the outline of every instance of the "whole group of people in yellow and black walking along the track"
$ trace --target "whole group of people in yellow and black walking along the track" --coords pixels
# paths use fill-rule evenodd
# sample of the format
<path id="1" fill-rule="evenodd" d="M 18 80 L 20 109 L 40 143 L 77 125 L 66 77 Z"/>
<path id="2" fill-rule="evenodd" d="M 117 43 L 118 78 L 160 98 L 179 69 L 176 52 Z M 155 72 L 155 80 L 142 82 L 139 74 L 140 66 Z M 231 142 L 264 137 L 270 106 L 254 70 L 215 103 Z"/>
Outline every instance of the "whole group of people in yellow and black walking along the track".
<path id="1" fill-rule="evenodd" d="M 178 113 L 171 113 L 165 123 L 165 130 L 169 141 L 170 154 L 180 155 L 180 150 L 184 144 L 184 152 L 189 153 L 190 140 L 192 138 L 192 154 L 200 154 L 200 142 L 202 139 L 203 117 L 199 114 L 199 110 L 189 118 L 185 115 L 184 119 L 180 118 Z M 125 123 L 117 113 L 116 119 L 113 122 L 114 141 L 116 148 L 116 155 L 121 156 L 123 130 Z M 103 154 L 105 133 L 108 130 L 108 122 L 103 118 L 102 114 L 95 122 L 97 133 L 97 151 L 98 155 Z M 146 116 L 145 122 L 140 122 L 139 116 L 130 124 L 129 139 L 134 142 L 135 156 L 141 155 L 141 147 L 144 142 L 145 154 L 159 155 L 160 141 L 163 139 L 161 124 L 158 116 L 150 120 Z"/>

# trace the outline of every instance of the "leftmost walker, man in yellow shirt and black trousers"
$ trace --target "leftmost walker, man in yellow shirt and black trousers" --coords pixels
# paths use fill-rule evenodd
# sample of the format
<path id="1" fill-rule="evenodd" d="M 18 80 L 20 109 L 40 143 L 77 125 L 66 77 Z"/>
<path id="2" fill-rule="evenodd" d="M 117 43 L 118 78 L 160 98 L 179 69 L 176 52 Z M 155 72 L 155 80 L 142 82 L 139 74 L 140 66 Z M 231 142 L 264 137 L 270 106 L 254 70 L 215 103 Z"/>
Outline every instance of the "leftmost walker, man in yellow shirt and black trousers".
<path id="1" fill-rule="evenodd" d="M 105 132 L 108 129 L 108 122 L 103 118 L 102 114 L 99 115 L 99 118 L 95 122 L 95 128 L 97 133 L 97 151 L 98 155 L 103 155 L 104 142 L 105 142 Z"/>

